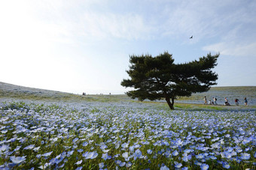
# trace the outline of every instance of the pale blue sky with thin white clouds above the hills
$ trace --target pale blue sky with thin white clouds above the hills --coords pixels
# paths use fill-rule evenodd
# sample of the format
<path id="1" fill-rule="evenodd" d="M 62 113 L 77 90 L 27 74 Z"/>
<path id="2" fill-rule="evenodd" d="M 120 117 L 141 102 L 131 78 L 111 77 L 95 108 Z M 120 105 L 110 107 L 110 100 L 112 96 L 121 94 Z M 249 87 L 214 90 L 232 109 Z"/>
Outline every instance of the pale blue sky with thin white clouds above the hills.
<path id="1" fill-rule="evenodd" d="M 129 55 L 220 52 L 218 86 L 256 85 L 256 1 L 0 1 L 0 82 L 123 94 Z M 190 36 L 194 36 L 190 39 Z"/>

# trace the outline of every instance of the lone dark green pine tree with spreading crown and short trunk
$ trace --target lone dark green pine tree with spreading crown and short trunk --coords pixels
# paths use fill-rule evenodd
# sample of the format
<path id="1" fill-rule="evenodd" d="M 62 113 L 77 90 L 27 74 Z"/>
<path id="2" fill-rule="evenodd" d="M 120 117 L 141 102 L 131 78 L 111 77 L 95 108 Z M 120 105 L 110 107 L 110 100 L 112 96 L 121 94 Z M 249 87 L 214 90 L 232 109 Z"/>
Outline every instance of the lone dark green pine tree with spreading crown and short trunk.
<path id="1" fill-rule="evenodd" d="M 133 99 L 160 100 L 164 98 L 169 107 L 173 109 L 176 97 L 208 91 L 210 85 L 216 85 L 218 75 L 212 72 L 212 68 L 217 65 L 218 56 L 219 54 L 208 54 L 199 61 L 174 64 L 174 59 L 168 52 L 156 57 L 132 55 L 130 56 L 130 70 L 126 71 L 131 79 L 123 79 L 121 85 L 135 89 L 126 93 Z"/>

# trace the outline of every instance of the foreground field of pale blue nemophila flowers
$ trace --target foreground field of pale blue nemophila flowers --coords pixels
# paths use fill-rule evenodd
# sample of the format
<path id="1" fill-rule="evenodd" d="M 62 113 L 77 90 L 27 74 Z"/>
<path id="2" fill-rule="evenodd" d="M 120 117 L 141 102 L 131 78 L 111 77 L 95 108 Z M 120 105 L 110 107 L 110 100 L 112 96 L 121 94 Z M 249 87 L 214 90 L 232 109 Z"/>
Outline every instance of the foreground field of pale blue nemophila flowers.
<path id="1" fill-rule="evenodd" d="M 5 103 L 0 169 L 255 169 L 256 113 Z"/>

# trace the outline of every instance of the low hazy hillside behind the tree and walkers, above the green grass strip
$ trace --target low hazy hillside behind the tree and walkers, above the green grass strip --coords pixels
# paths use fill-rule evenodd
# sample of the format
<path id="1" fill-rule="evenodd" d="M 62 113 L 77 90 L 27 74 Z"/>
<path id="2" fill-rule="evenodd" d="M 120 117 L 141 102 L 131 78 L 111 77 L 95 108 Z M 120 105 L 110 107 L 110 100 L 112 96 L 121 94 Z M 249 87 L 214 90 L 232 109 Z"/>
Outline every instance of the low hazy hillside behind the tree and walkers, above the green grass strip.
<path id="1" fill-rule="evenodd" d="M 256 86 L 239 86 L 239 87 L 213 87 L 209 91 L 203 93 L 192 94 L 191 97 L 178 97 L 175 103 L 203 103 L 203 97 L 212 100 L 212 97 L 217 97 L 218 104 L 224 104 L 224 97 L 234 104 L 236 98 L 240 104 L 243 104 L 244 97 L 247 97 L 248 104 L 256 106 Z M 27 88 L 19 85 L 11 85 L 5 82 L 0 82 L 0 98 L 18 98 L 29 100 L 87 100 L 87 101 L 120 101 L 131 100 L 126 95 L 90 95 L 81 96 L 78 94 L 69 94 L 60 91 L 49 91 L 39 88 Z M 163 101 L 165 102 L 165 101 Z"/>

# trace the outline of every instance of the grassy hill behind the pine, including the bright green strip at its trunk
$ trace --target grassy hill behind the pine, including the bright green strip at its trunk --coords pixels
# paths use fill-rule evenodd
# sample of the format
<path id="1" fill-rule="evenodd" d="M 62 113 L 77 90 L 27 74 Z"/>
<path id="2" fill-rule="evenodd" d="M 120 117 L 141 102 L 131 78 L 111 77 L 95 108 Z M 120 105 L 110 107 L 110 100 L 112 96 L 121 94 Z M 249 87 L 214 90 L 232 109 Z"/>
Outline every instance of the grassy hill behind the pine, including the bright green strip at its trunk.
<path id="1" fill-rule="evenodd" d="M 193 94 L 191 97 L 178 97 L 175 100 L 176 109 L 244 109 L 243 97 L 248 98 L 248 109 L 256 107 L 256 86 L 251 87 L 213 87 L 204 93 Z M 204 106 L 203 97 L 206 96 L 208 100 L 212 97 L 218 98 L 218 106 Z M 231 105 L 234 105 L 233 100 L 239 98 L 240 106 L 225 107 L 224 97 L 230 100 Z M 0 99 L 18 99 L 18 100 L 41 100 L 41 101 L 54 101 L 54 102 L 123 102 L 123 103 L 142 103 L 137 100 L 132 100 L 125 94 L 120 95 L 87 95 L 82 96 L 78 94 L 70 94 L 60 91 L 49 91 L 38 88 L 27 88 L 19 85 L 11 85 L 5 82 L 0 82 Z M 166 106 L 165 100 L 161 101 L 144 101 L 143 103 L 151 103 L 156 106 Z"/>

